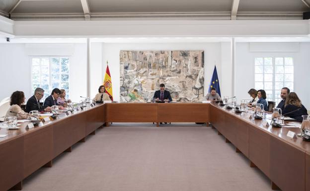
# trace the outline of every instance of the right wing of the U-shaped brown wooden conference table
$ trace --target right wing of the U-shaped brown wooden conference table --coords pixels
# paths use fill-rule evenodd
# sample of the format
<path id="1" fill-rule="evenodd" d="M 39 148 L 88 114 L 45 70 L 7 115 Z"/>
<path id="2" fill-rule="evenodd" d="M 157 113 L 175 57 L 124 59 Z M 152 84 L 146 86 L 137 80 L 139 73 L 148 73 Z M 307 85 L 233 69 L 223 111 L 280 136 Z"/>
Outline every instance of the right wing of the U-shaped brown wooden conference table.
<path id="1" fill-rule="evenodd" d="M 249 158 L 251 167 L 258 167 L 271 180 L 273 189 L 309 191 L 310 143 L 287 136 L 289 130 L 298 133 L 299 128 L 263 127 L 266 119 L 249 119 L 246 113 L 236 114 L 215 104 L 211 104 L 210 121 L 237 152 Z"/>

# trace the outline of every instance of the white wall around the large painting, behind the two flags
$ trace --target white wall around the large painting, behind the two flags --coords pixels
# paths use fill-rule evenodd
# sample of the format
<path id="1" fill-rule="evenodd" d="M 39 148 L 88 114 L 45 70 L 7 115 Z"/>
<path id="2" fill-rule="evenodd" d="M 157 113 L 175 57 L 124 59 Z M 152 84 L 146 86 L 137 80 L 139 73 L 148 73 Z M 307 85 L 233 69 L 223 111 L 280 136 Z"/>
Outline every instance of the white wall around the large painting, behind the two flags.
<path id="1" fill-rule="evenodd" d="M 224 85 L 230 83 L 228 76 L 230 76 L 231 71 L 227 69 L 230 65 L 230 62 L 228 62 L 228 58 L 231 56 L 230 43 L 103 43 L 102 61 L 104 66 L 102 72 L 104 74 L 105 63 L 108 60 L 113 84 L 113 97 L 116 101 L 119 101 L 120 96 L 119 52 L 121 50 L 204 50 L 205 93 L 208 91 L 214 65 L 217 66 L 222 95 L 228 95 L 231 92 L 231 87 Z M 101 80 L 103 80 L 103 75 Z"/>

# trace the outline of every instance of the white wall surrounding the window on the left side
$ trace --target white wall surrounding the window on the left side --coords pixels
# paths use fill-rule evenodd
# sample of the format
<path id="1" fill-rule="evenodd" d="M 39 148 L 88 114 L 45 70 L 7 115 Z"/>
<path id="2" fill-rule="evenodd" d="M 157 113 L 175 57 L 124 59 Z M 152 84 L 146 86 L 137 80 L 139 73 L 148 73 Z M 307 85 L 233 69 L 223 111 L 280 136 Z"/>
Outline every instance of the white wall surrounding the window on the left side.
<path id="1" fill-rule="evenodd" d="M 80 95 L 86 95 L 86 44 L 31 44 L 30 51 L 27 44 L 0 44 L 0 100 L 20 90 L 25 93 L 26 100 L 33 95 L 31 92 L 31 63 L 30 57 L 35 55 L 49 56 L 50 47 L 54 47 L 53 56 L 67 55 L 70 63 L 70 97 L 79 101 Z M 37 52 L 37 54 L 36 54 Z"/>

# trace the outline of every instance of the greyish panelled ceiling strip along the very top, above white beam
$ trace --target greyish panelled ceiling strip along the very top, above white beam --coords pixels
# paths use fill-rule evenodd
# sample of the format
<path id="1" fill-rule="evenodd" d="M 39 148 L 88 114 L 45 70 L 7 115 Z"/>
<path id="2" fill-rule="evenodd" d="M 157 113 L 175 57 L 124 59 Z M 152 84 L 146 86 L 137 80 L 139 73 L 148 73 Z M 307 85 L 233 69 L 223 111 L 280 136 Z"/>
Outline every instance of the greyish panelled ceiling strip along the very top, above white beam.
<path id="1" fill-rule="evenodd" d="M 13 20 L 231 19 L 233 1 L 237 19 L 302 19 L 310 11 L 310 0 L 0 0 L 0 14 Z"/>

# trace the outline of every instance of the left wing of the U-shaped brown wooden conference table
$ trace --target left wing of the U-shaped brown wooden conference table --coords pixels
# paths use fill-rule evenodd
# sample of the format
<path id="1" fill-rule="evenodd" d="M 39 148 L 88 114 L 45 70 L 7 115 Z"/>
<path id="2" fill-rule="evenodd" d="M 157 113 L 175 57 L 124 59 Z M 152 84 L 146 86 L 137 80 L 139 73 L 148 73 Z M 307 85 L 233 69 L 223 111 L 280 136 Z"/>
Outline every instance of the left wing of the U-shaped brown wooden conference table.
<path id="1" fill-rule="evenodd" d="M 41 168 L 52 167 L 52 160 L 72 145 L 84 142 L 105 123 L 105 106 L 96 105 L 74 114 L 61 114 L 56 120 L 39 127 L 26 129 L 29 122 L 18 130 L 0 129 L 0 191 L 22 189 L 22 180 Z"/>

